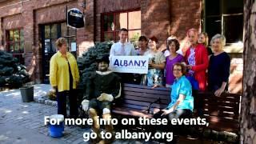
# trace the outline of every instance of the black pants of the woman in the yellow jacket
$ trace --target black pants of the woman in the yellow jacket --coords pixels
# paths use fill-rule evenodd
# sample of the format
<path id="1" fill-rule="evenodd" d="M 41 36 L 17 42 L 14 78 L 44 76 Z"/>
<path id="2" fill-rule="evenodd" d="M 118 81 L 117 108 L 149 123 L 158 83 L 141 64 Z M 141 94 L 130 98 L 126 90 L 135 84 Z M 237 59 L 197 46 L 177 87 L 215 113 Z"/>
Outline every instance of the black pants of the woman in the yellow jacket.
<path id="1" fill-rule="evenodd" d="M 77 118 L 78 117 L 78 103 L 77 103 L 77 95 L 75 90 L 66 90 L 62 92 L 58 92 L 57 90 L 57 102 L 58 102 L 58 114 L 63 114 L 66 118 L 66 96 L 69 97 L 70 101 L 70 117 Z"/>

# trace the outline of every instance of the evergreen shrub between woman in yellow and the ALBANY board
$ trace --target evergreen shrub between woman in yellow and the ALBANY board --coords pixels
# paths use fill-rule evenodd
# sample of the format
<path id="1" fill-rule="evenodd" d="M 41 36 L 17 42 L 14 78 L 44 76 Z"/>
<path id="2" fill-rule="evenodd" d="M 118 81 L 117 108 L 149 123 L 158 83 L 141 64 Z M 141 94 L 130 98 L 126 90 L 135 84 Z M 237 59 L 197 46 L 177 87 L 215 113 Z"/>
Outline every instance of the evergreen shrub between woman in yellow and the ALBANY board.
<path id="1" fill-rule="evenodd" d="M 78 57 L 78 69 L 80 70 L 80 83 L 82 88 L 86 86 L 87 78 L 90 78 L 91 72 L 97 69 L 96 60 L 102 58 L 104 55 L 110 54 L 110 48 L 114 42 L 96 42 L 94 46 Z"/>

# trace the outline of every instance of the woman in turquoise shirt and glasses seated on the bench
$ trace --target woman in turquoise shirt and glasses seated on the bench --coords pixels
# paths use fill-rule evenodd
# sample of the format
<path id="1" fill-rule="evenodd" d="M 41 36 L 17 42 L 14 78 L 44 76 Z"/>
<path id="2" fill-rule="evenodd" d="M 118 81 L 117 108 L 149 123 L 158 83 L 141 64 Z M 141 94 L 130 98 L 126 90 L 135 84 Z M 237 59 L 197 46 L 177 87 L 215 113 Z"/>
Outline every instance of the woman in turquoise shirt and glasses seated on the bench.
<path id="1" fill-rule="evenodd" d="M 166 109 L 154 114 L 154 118 L 186 118 L 193 112 L 194 98 L 190 81 L 185 77 L 186 67 L 182 63 L 175 63 L 173 72 L 175 80 L 171 86 L 171 102 Z"/>

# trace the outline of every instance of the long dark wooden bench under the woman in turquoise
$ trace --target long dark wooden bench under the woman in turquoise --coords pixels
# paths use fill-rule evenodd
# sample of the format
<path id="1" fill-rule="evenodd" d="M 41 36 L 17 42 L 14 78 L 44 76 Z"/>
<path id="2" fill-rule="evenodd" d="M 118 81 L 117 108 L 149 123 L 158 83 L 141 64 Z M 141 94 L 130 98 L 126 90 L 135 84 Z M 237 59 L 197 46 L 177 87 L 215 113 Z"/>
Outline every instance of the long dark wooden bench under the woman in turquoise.
<path id="1" fill-rule="evenodd" d="M 121 105 L 114 106 L 114 115 L 121 118 L 152 118 L 153 113 L 170 103 L 170 89 L 124 84 L 123 98 Z M 198 98 L 203 98 L 203 117 L 209 122 L 206 129 L 238 134 L 241 100 L 239 94 L 222 94 L 221 97 L 216 97 L 213 93 L 198 92 Z M 198 104 L 196 99 L 194 102 L 194 105 Z"/>

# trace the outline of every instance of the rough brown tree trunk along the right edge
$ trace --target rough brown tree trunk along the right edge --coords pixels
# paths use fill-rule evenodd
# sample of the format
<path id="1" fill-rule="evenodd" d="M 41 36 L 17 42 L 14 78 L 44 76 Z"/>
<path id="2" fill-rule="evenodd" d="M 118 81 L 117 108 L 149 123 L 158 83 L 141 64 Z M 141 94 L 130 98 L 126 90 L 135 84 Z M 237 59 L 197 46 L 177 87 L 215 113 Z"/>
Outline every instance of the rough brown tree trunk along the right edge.
<path id="1" fill-rule="evenodd" d="M 244 0 L 241 143 L 256 144 L 256 2 Z"/>

